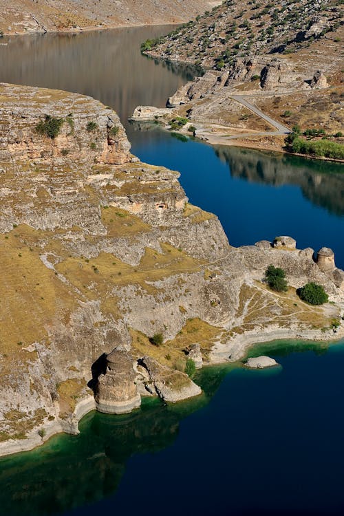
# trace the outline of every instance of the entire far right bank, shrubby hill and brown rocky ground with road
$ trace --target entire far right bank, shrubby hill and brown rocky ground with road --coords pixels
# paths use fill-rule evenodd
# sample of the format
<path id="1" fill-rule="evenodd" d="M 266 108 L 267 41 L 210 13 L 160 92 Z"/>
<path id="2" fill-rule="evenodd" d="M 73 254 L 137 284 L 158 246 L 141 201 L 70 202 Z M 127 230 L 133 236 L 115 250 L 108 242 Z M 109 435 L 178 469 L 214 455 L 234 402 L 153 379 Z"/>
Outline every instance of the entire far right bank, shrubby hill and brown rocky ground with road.
<path id="1" fill-rule="evenodd" d="M 208 70 L 169 99 L 167 122 L 187 116 L 211 143 L 282 150 L 295 125 L 344 143 L 343 38 L 340 1 L 230 0 L 142 51 Z"/>

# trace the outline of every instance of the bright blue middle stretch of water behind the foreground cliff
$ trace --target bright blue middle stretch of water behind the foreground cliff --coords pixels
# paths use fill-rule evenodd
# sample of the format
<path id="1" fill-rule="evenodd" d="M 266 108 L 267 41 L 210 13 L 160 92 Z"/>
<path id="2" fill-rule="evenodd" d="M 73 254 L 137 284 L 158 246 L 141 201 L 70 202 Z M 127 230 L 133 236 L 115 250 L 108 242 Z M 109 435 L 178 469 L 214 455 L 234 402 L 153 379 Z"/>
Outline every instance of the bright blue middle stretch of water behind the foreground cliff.
<path id="1" fill-rule="evenodd" d="M 136 136 L 133 152 L 180 171 L 190 202 L 216 213 L 230 244 L 290 235 L 299 248 L 333 248 L 344 268 L 343 164 L 154 135 Z"/>

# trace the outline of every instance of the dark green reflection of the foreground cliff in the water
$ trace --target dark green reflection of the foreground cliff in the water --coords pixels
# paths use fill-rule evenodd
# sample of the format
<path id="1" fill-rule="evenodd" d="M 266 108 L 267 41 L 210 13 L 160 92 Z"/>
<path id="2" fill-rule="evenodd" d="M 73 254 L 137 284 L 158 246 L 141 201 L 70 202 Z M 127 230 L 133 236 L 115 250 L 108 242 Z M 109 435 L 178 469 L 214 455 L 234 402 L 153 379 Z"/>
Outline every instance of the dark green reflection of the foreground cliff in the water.
<path id="1" fill-rule="evenodd" d="M 171 446 L 180 421 L 208 402 L 226 372 L 226 366 L 200 372 L 206 394 L 197 398 L 169 406 L 148 400 L 123 416 L 92 412 L 80 423 L 79 436 L 55 436 L 41 449 L 2 458 L 1 514 L 56 515 L 114 494 L 127 460 Z"/>

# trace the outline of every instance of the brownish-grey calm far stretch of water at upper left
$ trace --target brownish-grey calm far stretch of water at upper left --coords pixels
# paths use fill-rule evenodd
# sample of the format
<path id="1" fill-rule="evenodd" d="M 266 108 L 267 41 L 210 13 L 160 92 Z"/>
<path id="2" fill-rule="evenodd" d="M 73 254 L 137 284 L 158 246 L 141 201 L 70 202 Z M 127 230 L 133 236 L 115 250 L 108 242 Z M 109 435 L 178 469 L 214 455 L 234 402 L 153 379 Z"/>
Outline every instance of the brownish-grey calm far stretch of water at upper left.
<path id="1" fill-rule="evenodd" d="M 123 123 L 137 105 L 164 106 L 199 70 L 140 54 L 140 45 L 171 25 L 84 34 L 4 38 L 0 80 L 90 95 L 116 109 Z M 15 65 L 14 65 L 15 63 Z"/>

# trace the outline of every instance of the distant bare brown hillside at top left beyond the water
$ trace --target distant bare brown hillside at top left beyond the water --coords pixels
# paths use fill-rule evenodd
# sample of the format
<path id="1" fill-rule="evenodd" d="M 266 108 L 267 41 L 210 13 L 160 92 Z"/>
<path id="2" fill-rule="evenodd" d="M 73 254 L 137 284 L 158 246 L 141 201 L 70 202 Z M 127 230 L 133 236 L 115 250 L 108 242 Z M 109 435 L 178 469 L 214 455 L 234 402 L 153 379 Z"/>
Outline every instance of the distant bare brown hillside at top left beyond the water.
<path id="1" fill-rule="evenodd" d="M 208 0 L 0 0 L 4 34 L 182 23 L 219 3 Z"/>

